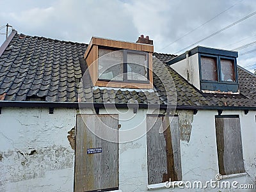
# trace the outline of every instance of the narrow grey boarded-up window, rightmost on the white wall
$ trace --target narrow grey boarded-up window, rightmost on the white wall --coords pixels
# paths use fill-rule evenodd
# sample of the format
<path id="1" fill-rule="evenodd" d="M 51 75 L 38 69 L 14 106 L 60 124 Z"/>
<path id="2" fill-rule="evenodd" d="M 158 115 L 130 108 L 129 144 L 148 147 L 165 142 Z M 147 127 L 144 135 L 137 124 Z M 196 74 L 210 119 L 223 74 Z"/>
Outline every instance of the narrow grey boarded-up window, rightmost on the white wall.
<path id="1" fill-rule="evenodd" d="M 243 173 L 244 161 L 239 116 L 216 116 L 215 124 L 220 174 Z"/>

